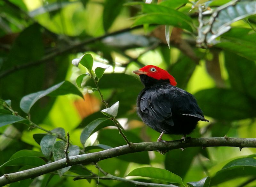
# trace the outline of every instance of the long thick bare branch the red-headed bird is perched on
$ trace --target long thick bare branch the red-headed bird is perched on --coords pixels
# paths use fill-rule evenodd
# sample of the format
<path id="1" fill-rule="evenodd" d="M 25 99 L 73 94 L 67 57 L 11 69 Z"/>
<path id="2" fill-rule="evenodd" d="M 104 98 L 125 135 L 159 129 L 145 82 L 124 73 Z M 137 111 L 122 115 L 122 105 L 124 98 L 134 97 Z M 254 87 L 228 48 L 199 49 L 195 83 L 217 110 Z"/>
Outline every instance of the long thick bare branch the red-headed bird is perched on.
<path id="1" fill-rule="evenodd" d="M 55 171 L 57 169 L 65 168 L 76 164 L 90 164 L 100 160 L 141 151 L 169 151 L 172 149 L 179 149 L 185 147 L 256 147 L 256 138 L 187 138 L 183 143 L 182 140 L 173 140 L 166 143 L 163 142 L 144 142 L 132 143 L 131 146 L 124 145 L 114 147 L 111 149 L 89 153 L 84 155 L 70 156 L 69 162 L 66 164 L 66 158 L 59 161 L 51 162 L 36 168 L 19 171 L 16 173 L 4 174 L 0 177 L 0 186 L 13 183 L 16 181 L 35 178 L 37 176 Z"/>

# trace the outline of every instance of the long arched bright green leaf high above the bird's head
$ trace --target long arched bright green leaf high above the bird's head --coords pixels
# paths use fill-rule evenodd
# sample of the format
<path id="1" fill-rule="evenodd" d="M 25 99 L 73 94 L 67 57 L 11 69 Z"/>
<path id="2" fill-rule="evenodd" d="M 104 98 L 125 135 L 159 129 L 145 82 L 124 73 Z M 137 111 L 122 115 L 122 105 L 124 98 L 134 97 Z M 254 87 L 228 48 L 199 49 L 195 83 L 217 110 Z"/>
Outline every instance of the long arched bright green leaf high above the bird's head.
<path id="1" fill-rule="evenodd" d="M 172 11 L 175 11 L 175 10 L 172 10 Z M 143 24 L 172 25 L 172 26 L 186 29 L 192 32 L 193 29 L 190 26 L 190 23 L 188 23 L 187 20 L 184 20 L 184 18 L 180 18 L 178 16 L 175 17 L 175 13 L 172 14 L 171 12 L 170 13 L 157 12 L 157 13 L 143 14 L 136 18 L 132 26 L 143 25 Z"/>

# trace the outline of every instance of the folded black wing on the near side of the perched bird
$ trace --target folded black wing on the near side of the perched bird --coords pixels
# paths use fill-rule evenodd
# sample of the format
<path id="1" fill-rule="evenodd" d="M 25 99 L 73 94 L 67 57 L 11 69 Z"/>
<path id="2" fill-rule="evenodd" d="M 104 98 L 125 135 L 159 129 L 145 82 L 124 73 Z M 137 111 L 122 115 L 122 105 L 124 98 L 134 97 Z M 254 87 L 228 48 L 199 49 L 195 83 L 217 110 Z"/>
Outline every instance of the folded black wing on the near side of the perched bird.
<path id="1" fill-rule="evenodd" d="M 154 117 L 157 121 L 165 121 L 173 126 L 171 102 L 168 90 L 151 88 L 144 92 L 140 98 L 140 110 Z"/>

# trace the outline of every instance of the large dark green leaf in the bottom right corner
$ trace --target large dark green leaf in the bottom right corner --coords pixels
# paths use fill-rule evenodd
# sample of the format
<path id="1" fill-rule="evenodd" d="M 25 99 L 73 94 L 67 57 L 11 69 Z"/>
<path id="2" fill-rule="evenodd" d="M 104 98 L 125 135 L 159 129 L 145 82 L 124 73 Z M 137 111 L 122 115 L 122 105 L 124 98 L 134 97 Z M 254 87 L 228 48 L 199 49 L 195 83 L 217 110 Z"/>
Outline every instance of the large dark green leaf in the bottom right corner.
<path id="1" fill-rule="evenodd" d="M 226 164 L 211 179 L 211 186 L 218 185 L 225 181 L 243 177 L 255 176 L 256 159 L 254 158 L 238 158 Z"/>

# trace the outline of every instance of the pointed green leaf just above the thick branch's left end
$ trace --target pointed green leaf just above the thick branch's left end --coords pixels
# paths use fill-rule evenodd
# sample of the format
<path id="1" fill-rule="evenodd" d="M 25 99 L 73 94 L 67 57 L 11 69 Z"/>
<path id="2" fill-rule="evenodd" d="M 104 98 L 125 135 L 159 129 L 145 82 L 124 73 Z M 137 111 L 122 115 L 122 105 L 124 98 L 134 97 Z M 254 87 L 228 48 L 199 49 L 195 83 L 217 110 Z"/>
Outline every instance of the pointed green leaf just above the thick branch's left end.
<path id="1" fill-rule="evenodd" d="M 36 156 L 20 156 L 5 162 L 0 166 L 0 169 L 4 166 L 42 166 L 46 164 L 45 161 Z"/>

